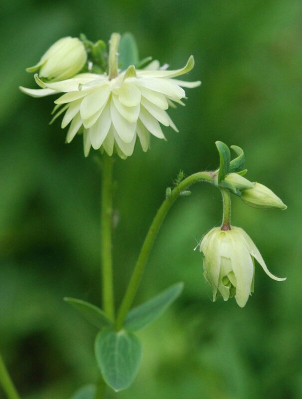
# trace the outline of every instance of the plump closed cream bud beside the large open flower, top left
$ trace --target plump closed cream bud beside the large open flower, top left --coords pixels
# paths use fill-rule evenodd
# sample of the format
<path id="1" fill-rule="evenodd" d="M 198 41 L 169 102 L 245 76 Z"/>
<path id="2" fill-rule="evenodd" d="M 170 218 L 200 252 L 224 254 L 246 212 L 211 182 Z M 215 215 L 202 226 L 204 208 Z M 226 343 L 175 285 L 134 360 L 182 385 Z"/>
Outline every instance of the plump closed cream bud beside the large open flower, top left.
<path id="1" fill-rule="evenodd" d="M 76 75 L 85 65 L 87 53 L 84 44 L 76 37 L 63 37 L 45 52 L 40 61 L 27 72 L 36 72 L 40 78 L 64 80 Z"/>

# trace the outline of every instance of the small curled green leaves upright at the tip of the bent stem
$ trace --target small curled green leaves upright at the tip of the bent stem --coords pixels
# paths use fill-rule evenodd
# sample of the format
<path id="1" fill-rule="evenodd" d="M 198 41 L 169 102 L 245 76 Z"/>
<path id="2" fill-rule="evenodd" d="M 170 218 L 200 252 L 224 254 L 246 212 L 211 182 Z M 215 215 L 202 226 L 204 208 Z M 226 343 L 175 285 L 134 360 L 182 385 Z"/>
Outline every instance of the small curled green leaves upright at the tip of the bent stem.
<path id="1" fill-rule="evenodd" d="M 218 183 L 222 182 L 228 173 L 238 173 L 245 175 L 245 156 L 243 150 L 238 146 L 231 146 L 237 157 L 231 161 L 231 153 L 229 147 L 222 141 L 217 141 L 217 150 L 219 152 L 219 172 Z"/>

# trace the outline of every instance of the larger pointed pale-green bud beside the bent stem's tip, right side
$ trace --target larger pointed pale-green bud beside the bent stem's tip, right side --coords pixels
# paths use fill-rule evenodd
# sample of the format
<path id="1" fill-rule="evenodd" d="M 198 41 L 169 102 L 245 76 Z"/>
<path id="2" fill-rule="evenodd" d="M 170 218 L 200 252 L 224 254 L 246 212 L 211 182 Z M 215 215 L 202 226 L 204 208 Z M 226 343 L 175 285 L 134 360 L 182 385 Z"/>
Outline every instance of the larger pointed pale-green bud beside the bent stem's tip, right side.
<path id="1" fill-rule="evenodd" d="M 287 208 L 287 205 L 272 190 L 260 183 L 255 183 L 253 189 L 243 190 L 241 199 L 255 208 Z"/>

